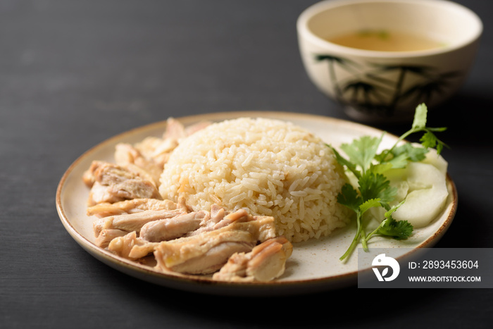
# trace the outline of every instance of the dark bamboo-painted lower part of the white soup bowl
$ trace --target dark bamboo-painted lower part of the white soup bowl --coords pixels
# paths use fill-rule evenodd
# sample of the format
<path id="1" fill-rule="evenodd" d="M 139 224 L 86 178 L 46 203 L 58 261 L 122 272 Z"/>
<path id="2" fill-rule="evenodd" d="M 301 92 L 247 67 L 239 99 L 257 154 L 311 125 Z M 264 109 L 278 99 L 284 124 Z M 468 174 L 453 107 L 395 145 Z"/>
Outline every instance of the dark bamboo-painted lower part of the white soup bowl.
<path id="1" fill-rule="evenodd" d="M 314 60 L 328 65 L 328 77 L 336 101 L 358 111 L 392 116 L 404 102 L 430 104 L 433 97 L 447 91 L 452 80 L 464 73 L 439 72 L 431 66 L 356 63 L 331 54 L 314 54 Z M 370 67 L 370 70 L 364 68 Z M 344 77 L 337 72 L 344 70 Z"/>

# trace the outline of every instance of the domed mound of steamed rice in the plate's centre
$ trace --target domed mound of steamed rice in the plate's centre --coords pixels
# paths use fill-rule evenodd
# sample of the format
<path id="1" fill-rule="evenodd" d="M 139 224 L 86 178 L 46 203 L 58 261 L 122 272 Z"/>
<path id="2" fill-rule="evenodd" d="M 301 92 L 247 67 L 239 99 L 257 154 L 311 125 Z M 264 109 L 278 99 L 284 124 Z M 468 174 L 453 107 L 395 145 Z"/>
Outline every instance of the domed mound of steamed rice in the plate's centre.
<path id="1" fill-rule="evenodd" d="M 302 242 L 346 225 L 347 210 L 337 204 L 345 182 L 332 150 L 311 132 L 281 120 L 239 118 L 183 139 L 159 192 L 185 198 L 194 211 L 218 204 L 273 216 L 279 235 Z"/>

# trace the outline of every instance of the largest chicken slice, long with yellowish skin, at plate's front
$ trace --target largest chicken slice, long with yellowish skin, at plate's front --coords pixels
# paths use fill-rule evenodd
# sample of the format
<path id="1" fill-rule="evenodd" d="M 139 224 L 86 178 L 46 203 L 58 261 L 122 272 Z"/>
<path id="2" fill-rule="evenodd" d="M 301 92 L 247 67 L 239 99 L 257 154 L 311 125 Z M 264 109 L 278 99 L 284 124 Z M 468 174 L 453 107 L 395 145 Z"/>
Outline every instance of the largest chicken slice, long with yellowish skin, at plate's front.
<path id="1" fill-rule="evenodd" d="M 161 242 L 154 251 L 158 263 L 156 268 L 189 274 L 218 271 L 232 254 L 249 252 L 258 241 L 275 237 L 273 217 L 251 219 L 199 235 Z"/>

